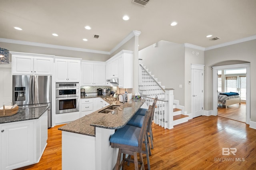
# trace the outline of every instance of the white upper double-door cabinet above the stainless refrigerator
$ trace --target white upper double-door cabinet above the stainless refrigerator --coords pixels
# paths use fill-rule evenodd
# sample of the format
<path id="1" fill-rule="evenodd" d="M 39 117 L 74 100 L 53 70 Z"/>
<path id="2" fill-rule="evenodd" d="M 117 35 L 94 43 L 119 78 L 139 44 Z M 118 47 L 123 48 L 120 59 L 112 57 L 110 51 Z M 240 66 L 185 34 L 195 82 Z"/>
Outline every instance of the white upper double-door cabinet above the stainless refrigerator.
<path id="1" fill-rule="evenodd" d="M 12 54 L 12 73 L 23 75 L 52 75 L 53 57 L 35 57 L 26 56 L 25 54 Z"/>

